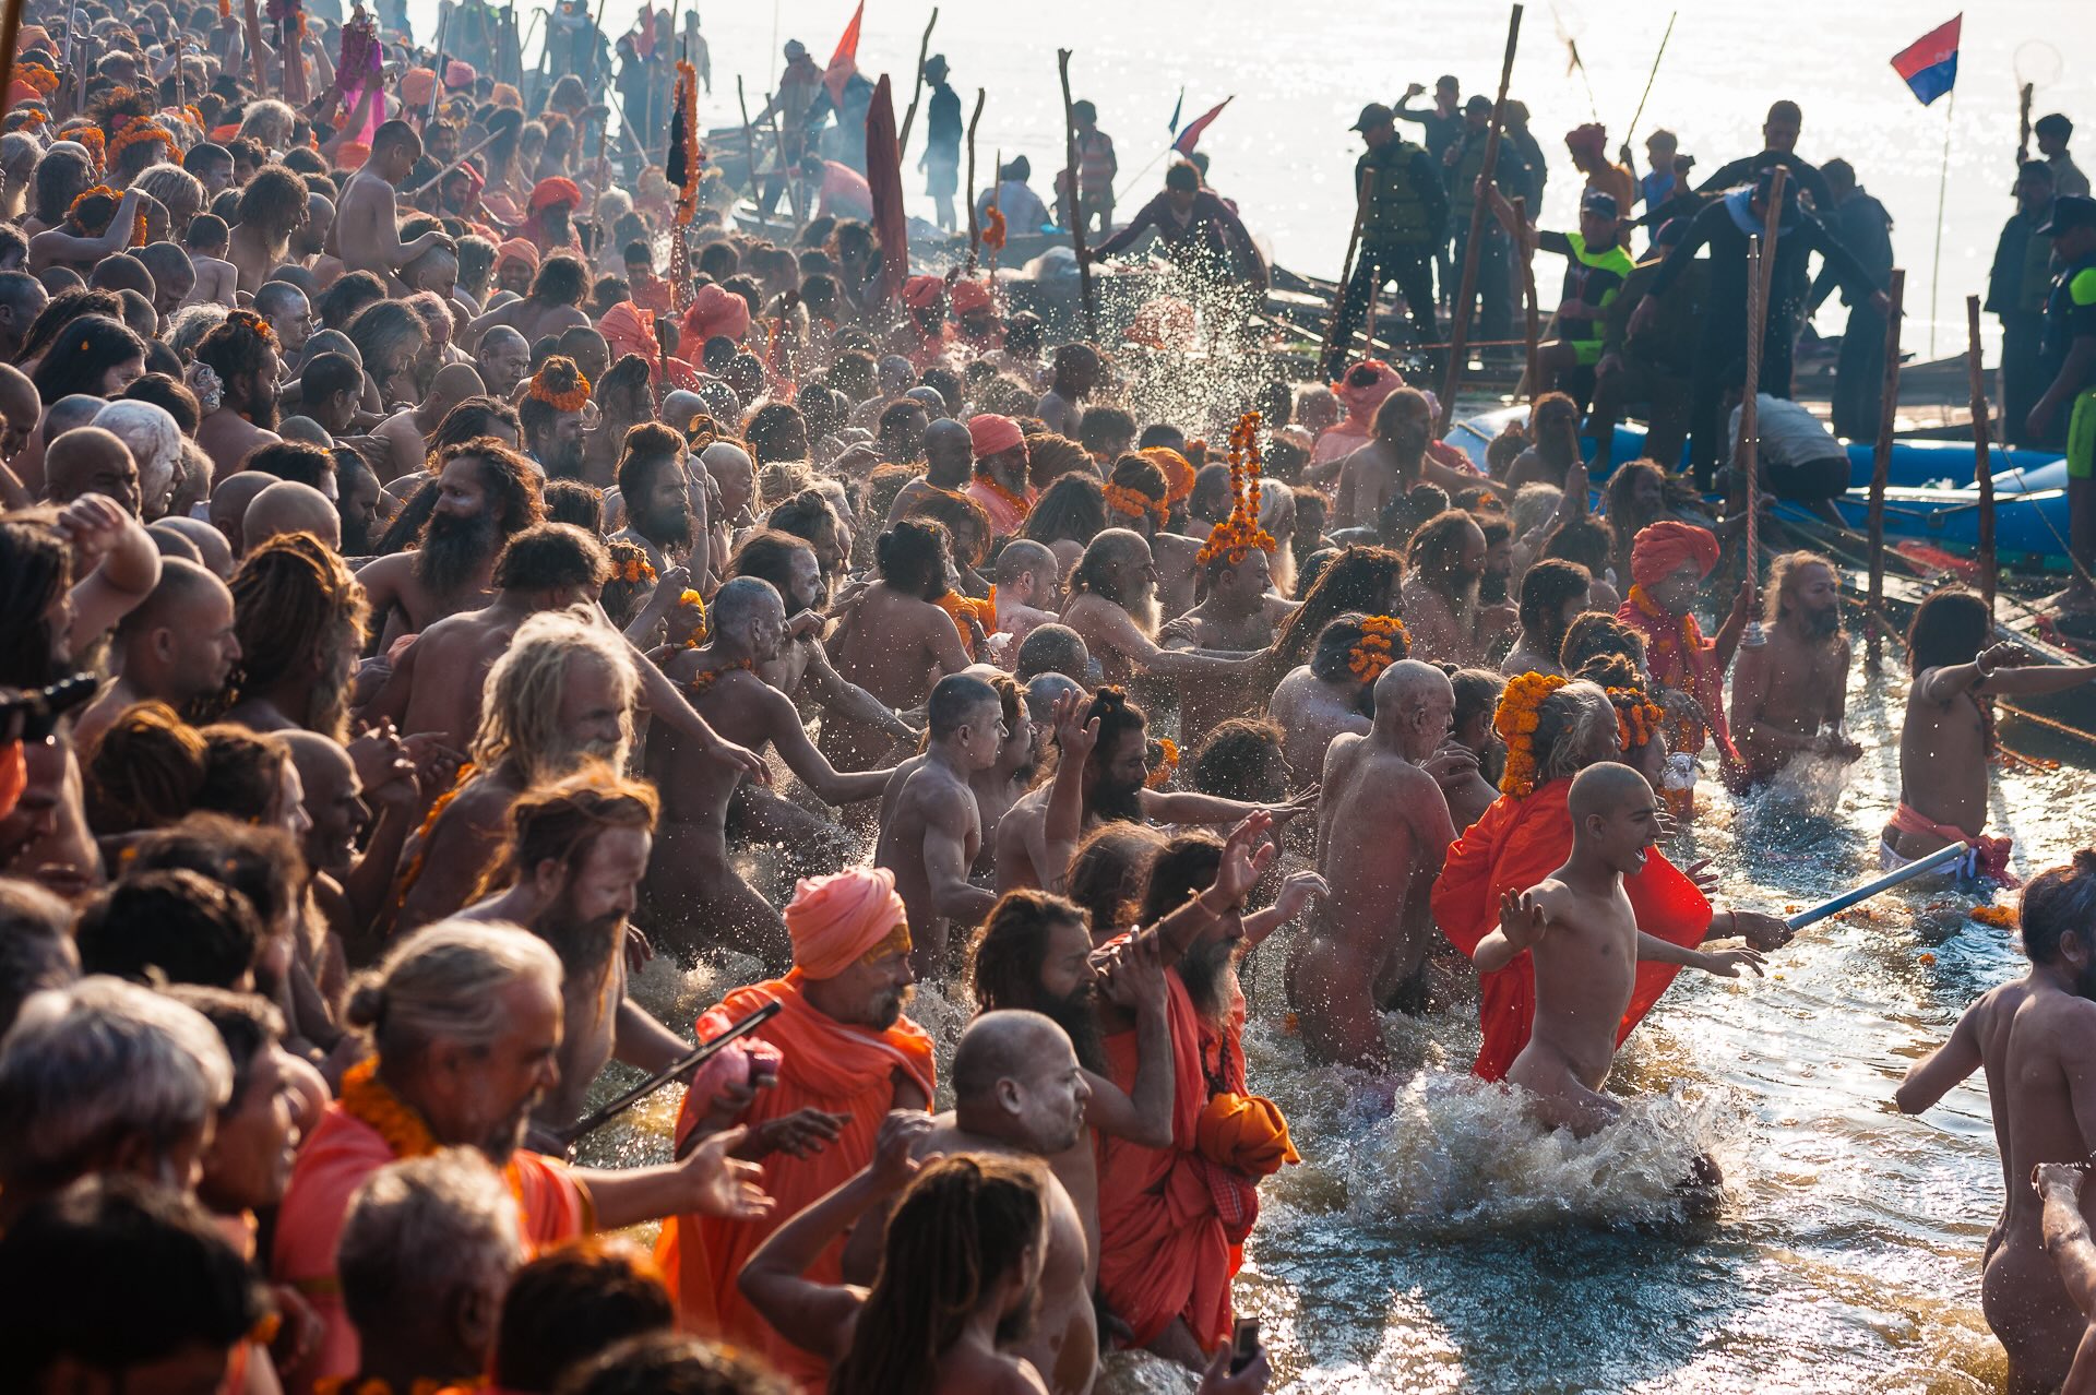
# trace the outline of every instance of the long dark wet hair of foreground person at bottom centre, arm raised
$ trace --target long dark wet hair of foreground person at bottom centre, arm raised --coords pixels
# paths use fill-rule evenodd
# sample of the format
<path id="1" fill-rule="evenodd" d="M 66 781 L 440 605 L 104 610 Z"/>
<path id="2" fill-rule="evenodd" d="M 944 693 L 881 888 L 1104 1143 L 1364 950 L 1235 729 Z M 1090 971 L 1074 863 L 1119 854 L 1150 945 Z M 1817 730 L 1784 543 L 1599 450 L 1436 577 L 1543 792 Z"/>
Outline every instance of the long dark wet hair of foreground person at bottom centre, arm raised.
<path id="1" fill-rule="evenodd" d="M 929 1391 L 939 1361 L 1042 1236 L 1046 1169 L 1033 1158 L 960 1154 L 924 1167 L 889 1213 L 880 1271 L 830 1395 Z"/>

